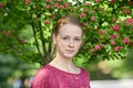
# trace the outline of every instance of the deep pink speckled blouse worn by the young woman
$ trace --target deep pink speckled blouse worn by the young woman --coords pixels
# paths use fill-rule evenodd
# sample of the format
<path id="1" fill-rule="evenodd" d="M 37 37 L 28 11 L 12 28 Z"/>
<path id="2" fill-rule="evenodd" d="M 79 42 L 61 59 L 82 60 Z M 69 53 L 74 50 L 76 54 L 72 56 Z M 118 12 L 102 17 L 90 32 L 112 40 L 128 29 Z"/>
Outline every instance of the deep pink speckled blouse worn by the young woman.
<path id="1" fill-rule="evenodd" d="M 89 73 L 80 69 L 80 74 L 71 74 L 47 65 L 39 70 L 31 88 L 90 88 Z"/>

